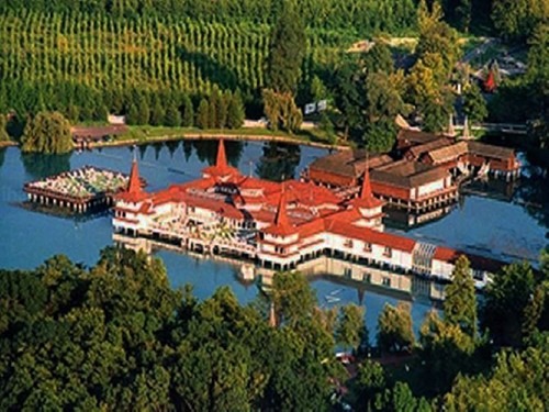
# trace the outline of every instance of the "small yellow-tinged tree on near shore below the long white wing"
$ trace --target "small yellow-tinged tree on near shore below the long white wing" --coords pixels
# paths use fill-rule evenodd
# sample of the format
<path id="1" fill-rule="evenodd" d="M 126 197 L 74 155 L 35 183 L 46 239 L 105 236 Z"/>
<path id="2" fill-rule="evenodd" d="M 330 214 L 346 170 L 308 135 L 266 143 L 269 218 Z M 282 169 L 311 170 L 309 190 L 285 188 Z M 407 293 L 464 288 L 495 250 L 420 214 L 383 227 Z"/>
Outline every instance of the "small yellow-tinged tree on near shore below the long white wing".
<path id="1" fill-rule="evenodd" d="M 378 319 L 378 346 L 383 352 L 410 350 L 414 344 L 410 304 L 399 302 L 396 308 L 385 303 Z"/>

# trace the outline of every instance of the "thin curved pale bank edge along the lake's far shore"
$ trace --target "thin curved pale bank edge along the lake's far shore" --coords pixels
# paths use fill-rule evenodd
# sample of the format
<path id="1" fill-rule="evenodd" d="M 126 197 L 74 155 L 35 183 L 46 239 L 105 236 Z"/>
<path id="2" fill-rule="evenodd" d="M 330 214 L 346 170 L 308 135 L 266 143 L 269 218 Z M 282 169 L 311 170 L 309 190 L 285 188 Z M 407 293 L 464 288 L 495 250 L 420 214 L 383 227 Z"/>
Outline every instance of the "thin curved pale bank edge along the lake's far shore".
<path id="1" fill-rule="evenodd" d="M 277 143 L 289 143 L 296 145 L 306 145 L 317 148 L 332 148 L 337 151 L 350 149 L 350 146 L 344 145 L 330 145 L 327 143 L 312 142 L 307 140 L 302 140 L 299 137 L 287 137 L 287 136 L 273 136 L 273 135 L 262 135 L 262 134 L 223 134 L 223 133 L 184 133 L 177 136 L 171 135 L 160 135 L 150 136 L 146 140 L 141 138 L 124 138 L 120 141 L 111 142 L 90 142 L 88 148 L 101 148 L 101 147 L 117 147 L 117 146 L 133 146 L 133 145 L 145 145 L 150 143 L 163 143 L 172 141 L 200 141 L 200 140 L 220 140 L 224 138 L 226 141 L 251 141 L 251 142 L 277 142 Z M 78 148 L 78 146 L 75 146 Z"/>

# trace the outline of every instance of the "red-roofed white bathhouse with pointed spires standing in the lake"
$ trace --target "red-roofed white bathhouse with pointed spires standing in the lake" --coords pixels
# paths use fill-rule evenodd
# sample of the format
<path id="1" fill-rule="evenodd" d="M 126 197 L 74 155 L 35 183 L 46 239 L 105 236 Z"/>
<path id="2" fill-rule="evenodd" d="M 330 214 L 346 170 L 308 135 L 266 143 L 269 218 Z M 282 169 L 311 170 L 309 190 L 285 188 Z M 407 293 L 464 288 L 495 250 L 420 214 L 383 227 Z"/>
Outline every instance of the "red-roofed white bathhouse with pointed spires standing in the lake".
<path id="1" fill-rule="evenodd" d="M 136 183 L 136 163 L 132 175 L 134 183 L 116 197 L 114 231 L 191 252 L 238 256 L 271 270 L 301 270 L 327 256 L 371 267 L 371 280 L 381 283 L 396 282 L 389 275 L 383 280 L 381 271 L 449 280 L 463 254 L 383 232 L 385 202 L 373 196 L 367 167 L 350 198 L 313 182 L 243 176 L 227 165 L 223 142 L 200 179 L 146 193 Z M 467 255 L 482 287 L 500 264 Z"/>

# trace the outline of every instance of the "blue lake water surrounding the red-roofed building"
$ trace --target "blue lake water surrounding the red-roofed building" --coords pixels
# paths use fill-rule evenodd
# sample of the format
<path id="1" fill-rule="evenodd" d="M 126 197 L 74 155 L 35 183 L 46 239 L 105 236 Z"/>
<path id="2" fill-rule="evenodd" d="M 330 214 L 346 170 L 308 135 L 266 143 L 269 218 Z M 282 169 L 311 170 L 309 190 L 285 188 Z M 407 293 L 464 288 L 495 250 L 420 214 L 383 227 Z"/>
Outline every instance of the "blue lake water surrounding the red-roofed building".
<path id="1" fill-rule="evenodd" d="M 214 162 L 216 146 L 216 142 L 186 141 L 137 147 L 139 171 L 148 183 L 147 190 L 154 191 L 197 178 L 204 166 Z M 55 254 L 65 254 L 74 261 L 93 265 L 99 250 L 112 244 L 111 216 L 104 213 L 74 219 L 25 210 L 21 207 L 21 202 L 26 199 L 23 183 L 85 165 L 127 172 L 133 151 L 131 147 L 114 147 L 65 156 L 27 156 L 15 147 L 0 149 L 0 268 L 31 269 Z M 226 152 L 229 162 L 244 174 L 271 179 L 299 176 L 314 158 L 327 153 L 306 146 L 257 142 L 226 142 Z M 436 222 L 406 230 L 407 235 L 505 260 L 520 257 L 535 261 L 540 249 L 549 243 L 547 175 L 540 168 L 527 166 L 520 183 L 511 192 L 505 185 L 501 189 L 501 182 L 494 186 L 498 199 L 464 196 L 451 213 Z M 491 187 L 481 189 L 492 190 Z M 402 232 L 399 229 L 388 230 Z M 156 256 L 164 260 L 173 287 L 191 283 L 194 294 L 200 299 L 225 285 L 234 290 L 243 303 L 257 297 L 256 285 L 238 280 L 236 266 L 168 250 L 159 250 Z M 366 305 L 371 335 L 383 304 L 395 304 L 400 299 L 406 299 L 391 291 L 371 290 L 363 285 L 341 283 L 332 278 L 315 278 L 312 285 L 323 305 L 335 304 L 323 299 L 334 292 L 337 292 L 339 303 Z M 413 301 L 412 314 L 416 329 L 432 307 L 428 300 Z"/>

